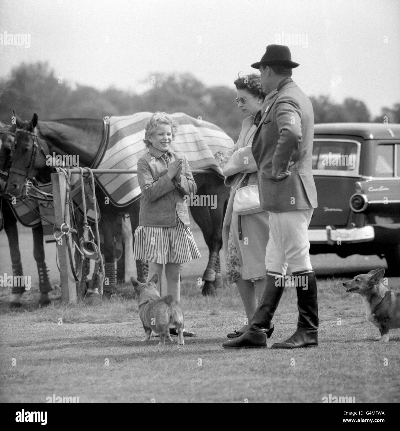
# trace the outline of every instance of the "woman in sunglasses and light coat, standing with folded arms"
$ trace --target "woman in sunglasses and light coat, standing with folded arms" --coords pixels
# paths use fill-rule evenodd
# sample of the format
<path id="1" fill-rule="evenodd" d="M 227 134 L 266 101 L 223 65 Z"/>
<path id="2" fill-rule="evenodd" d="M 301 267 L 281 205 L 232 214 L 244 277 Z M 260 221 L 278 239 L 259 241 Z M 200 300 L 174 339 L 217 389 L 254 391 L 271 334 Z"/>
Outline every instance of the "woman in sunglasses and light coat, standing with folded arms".
<path id="1" fill-rule="evenodd" d="M 245 115 L 242 123 L 242 131 L 233 150 L 225 156 L 226 163 L 223 168 L 225 184 L 232 187 L 223 221 L 223 247 L 226 256 L 226 278 L 229 283 L 236 282 L 240 297 L 245 307 L 246 319 L 244 325 L 238 330 L 227 335 L 228 338 L 236 338 L 248 330 L 251 319 L 264 287 L 265 280 L 265 250 L 268 242 L 268 211 L 255 214 L 241 215 L 233 211 L 233 192 L 247 174 L 247 185 L 257 183 L 257 165 L 251 153 L 256 125 L 254 117 L 261 109 L 265 93 L 261 86 L 260 76 L 239 76 L 234 81 L 237 90 L 236 103 Z M 242 181 L 243 182 L 243 181 Z M 242 183 L 241 183 L 242 185 Z M 242 232 L 239 235 L 239 231 Z M 273 332 L 273 324 L 266 328 L 269 338 Z"/>

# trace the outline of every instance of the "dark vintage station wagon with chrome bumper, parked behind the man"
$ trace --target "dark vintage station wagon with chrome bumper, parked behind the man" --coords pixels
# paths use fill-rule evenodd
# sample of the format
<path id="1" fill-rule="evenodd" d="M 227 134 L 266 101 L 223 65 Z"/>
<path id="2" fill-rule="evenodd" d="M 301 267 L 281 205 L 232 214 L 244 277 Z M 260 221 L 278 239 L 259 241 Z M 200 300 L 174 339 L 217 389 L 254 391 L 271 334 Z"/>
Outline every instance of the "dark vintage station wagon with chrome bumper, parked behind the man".
<path id="1" fill-rule="evenodd" d="M 400 124 L 314 127 L 310 253 L 378 255 L 400 275 Z"/>

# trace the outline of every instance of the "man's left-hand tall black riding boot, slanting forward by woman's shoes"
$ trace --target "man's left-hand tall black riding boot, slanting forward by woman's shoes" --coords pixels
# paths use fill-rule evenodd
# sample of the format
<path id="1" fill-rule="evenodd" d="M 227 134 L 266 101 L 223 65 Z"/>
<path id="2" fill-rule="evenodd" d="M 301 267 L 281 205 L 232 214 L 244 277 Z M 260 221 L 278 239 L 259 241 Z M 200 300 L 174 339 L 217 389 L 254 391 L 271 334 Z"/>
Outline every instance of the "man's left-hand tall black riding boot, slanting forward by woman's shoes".
<path id="1" fill-rule="evenodd" d="M 285 282 L 282 274 L 267 272 L 264 290 L 253 319 L 251 319 L 250 328 L 240 337 L 225 341 L 222 346 L 232 349 L 266 347 L 267 338 L 264 328 L 270 328 L 271 320 L 282 297 L 284 288 Z"/>

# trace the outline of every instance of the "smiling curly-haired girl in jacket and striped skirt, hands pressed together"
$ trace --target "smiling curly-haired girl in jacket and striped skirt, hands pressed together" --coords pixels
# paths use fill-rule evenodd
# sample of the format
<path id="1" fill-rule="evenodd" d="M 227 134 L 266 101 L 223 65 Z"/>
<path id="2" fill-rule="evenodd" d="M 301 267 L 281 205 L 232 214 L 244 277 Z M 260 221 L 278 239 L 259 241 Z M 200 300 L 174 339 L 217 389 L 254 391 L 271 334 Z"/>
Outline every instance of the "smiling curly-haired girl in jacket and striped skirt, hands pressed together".
<path id="1" fill-rule="evenodd" d="M 149 153 L 137 162 L 142 197 L 134 259 L 149 261 L 149 279 L 157 272 L 161 281 L 165 265 L 166 294 L 179 301 L 180 264 L 197 259 L 200 253 L 189 228 L 189 211 L 183 199 L 194 194 L 197 186 L 185 156 L 178 156 L 170 149 L 176 131 L 176 122 L 165 112 L 155 112 L 146 123 L 143 142 Z M 177 335 L 176 328 L 170 328 L 170 334 Z M 196 334 L 183 330 L 183 335 Z"/>

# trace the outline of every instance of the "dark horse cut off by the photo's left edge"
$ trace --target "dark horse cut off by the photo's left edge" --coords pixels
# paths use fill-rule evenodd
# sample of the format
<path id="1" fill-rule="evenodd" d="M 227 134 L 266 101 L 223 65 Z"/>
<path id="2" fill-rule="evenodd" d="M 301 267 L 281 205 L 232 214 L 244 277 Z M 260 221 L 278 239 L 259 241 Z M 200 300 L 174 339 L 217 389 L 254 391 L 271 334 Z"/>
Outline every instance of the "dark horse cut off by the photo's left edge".
<path id="1" fill-rule="evenodd" d="M 12 209 L 12 203 L 9 200 L 6 200 L 3 196 L 8 180 L 9 169 L 11 167 L 11 146 L 15 136 L 15 129 L 15 126 L 1 125 L 0 127 L 0 231 L 4 227 L 4 231 L 7 235 L 11 255 L 12 275 L 21 277 L 23 276 L 23 270 L 21 253 L 19 250 L 17 217 L 14 213 L 15 209 Z M 25 213 L 25 215 L 21 216 L 19 219 L 23 225 L 32 228 L 33 256 L 36 261 L 37 272 L 39 274 L 40 298 L 38 306 L 47 306 L 51 303 L 49 292 L 53 290 L 53 288 L 50 284 L 47 265 L 45 262 L 43 227 L 37 215 L 30 211 Z M 25 286 L 12 286 L 12 297 L 9 302 L 10 308 L 15 309 L 22 306 L 21 297 L 24 292 Z"/>

